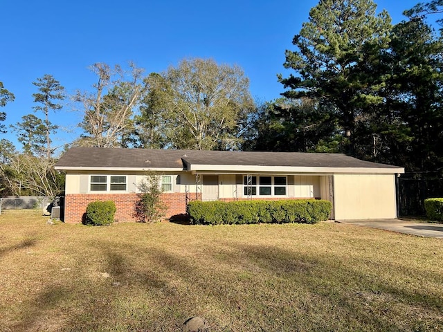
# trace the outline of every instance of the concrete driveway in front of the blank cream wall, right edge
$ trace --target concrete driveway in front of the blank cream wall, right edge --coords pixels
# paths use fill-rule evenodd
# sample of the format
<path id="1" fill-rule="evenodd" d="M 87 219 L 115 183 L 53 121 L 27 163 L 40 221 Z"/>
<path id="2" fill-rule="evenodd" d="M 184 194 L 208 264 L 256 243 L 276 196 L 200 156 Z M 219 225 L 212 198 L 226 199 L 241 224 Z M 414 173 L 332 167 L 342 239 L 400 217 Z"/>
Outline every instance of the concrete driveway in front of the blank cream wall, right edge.
<path id="1" fill-rule="evenodd" d="M 349 223 L 350 225 L 379 228 L 404 234 L 413 234 L 418 237 L 440 237 L 443 238 L 442 223 L 417 223 L 401 219 L 374 219 L 374 220 L 343 220 L 337 223 Z"/>

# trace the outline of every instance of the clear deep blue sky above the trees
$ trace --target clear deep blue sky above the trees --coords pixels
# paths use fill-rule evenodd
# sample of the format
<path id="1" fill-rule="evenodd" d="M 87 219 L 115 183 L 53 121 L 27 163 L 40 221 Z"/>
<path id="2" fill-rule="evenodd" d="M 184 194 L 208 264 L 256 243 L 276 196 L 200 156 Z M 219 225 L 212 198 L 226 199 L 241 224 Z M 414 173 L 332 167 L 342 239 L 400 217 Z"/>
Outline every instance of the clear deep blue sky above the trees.
<path id="1" fill-rule="evenodd" d="M 392 23 L 419 0 L 375 0 Z M 67 93 L 90 89 L 95 62 L 133 61 L 145 73 L 165 71 L 183 58 L 212 58 L 237 64 L 250 80 L 253 97 L 274 100 L 283 91 L 276 75 L 284 69 L 284 50 L 307 21 L 317 0 L 1 0 L 0 81 L 15 94 L 6 111 L 7 126 L 33 113 L 32 84 L 51 74 Z M 81 114 L 64 109 L 50 120 L 68 132 L 54 145 L 78 137 Z M 42 115 L 39 115 L 42 116 Z M 16 142 L 15 133 L 0 134 Z M 17 145 L 19 148 L 19 145 Z"/>

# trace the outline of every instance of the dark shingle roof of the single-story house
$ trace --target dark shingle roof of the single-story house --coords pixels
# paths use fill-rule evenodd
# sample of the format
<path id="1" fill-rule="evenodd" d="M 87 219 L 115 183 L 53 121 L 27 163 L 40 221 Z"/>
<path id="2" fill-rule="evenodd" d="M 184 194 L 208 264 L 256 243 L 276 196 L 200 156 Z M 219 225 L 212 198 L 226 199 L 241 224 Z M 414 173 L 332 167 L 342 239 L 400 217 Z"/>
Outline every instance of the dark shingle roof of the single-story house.
<path id="1" fill-rule="evenodd" d="M 183 163 L 185 162 L 185 163 Z M 73 147 L 60 158 L 56 168 L 177 168 L 189 165 L 254 165 L 288 167 L 400 168 L 370 163 L 344 154 L 298 152 L 198 151 Z"/>

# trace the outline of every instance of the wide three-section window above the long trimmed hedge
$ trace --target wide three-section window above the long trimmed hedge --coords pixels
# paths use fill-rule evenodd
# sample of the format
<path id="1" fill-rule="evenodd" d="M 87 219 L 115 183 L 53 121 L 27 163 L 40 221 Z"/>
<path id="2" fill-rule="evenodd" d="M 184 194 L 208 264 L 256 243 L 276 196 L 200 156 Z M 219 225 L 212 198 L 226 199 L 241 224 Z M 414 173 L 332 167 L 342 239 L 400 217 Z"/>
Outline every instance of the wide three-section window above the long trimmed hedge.
<path id="1" fill-rule="evenodd" d="M 243 184 L 244 196 L 286 196 L 287 192 L 286 176 L 244 176 Z"/>

